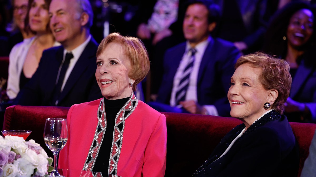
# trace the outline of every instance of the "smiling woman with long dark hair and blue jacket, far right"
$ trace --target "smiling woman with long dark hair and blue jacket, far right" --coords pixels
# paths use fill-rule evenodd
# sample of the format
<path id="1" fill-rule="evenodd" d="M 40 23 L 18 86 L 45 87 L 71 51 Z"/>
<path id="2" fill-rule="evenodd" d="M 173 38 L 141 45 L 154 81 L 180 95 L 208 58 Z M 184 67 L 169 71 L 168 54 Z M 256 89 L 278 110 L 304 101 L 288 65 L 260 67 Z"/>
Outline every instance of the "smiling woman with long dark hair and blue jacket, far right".
<path id="1" fill-rule="evenodd" d="M 286 60 L 293 78 L 284 114 L 291 122 L 316 122 L 315 9 L 292 2 L 271 19 L 263 50 Z"/>

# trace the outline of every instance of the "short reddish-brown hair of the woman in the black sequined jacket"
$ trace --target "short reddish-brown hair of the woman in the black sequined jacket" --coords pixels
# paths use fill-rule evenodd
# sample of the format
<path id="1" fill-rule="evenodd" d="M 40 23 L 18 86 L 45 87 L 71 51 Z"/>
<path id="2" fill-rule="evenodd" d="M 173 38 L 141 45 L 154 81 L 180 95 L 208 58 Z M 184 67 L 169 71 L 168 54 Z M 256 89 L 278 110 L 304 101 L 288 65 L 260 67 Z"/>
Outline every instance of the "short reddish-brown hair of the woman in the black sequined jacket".
<path id="1" fill-rule="evenodd" d="M 241 56 L 237 60 L 235 68 L 245 63 L 252 65 L 254 68 L 262 69 L 259 81 L 264 89 L 276 89 L 279 92 L 278 97 L 271 107 L 282 114 L 284 103 L 289 97 L 292 84 L 289 64 L 283 59 L 278 59 L 276 56 L 271 56 L 260 51 Z"/>

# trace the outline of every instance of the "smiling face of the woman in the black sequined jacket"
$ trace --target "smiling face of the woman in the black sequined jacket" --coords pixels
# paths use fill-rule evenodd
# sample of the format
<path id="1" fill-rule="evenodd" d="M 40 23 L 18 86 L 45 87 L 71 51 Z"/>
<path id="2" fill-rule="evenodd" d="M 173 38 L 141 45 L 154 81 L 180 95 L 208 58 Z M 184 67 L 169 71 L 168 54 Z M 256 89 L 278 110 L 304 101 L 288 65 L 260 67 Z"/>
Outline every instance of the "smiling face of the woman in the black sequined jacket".
<path id="1" fill-rule="evenodd" d="M 267 111 L 264 103 L 268 102 L 270 91 L 261 84 L 261 73 L 261 68 L 254 68 L 248 63 L 240 65 L 234 72 L 227 94 L 232 117 L 256 120 Z"/>

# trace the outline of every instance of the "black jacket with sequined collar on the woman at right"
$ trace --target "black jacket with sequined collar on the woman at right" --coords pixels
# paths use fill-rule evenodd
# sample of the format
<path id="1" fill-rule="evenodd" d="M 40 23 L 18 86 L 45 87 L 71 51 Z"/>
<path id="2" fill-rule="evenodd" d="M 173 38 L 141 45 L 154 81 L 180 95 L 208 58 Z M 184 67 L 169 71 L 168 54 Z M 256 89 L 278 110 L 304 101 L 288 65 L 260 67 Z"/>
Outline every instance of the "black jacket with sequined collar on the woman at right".
<path id="1" fill-rule="evenodd" d="M 275 111 L 252 124 L 218 159 L 244 128 L 240 124 L 228 132 L 193 176 L 297 176 L 295 136 L 287 118 Z"/>

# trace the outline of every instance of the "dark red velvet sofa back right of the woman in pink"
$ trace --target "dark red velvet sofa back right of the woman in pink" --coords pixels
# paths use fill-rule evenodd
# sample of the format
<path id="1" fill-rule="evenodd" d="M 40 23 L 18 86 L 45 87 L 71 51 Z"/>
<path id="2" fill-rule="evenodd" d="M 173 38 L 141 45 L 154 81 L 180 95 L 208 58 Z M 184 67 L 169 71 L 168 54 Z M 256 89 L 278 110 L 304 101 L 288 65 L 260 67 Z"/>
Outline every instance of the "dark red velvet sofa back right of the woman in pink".
<path id="1" fill-rule="evenodd" d="M 242 123 L 231 117 L 163 112 L 167 119 L 166 176 L 192 176 L 232 128 Z M 290 122 L 298 142 L 301 176 L 316 124 Z"/>

